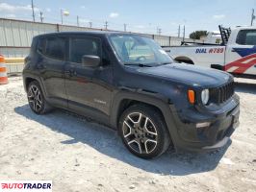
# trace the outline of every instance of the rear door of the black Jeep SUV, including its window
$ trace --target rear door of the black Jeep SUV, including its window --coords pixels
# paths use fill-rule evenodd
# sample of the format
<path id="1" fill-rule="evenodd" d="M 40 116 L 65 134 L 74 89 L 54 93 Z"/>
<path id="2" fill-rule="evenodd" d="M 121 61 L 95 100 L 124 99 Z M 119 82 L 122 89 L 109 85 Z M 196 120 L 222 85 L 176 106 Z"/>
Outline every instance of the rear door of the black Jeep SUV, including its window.
<path id="1" fill-rule="evenodd" d="M 67 41 L 64 36 L 46 36 L 38 40 L 38 72 L 46 97 L 58 107 L 67 107 L 64 88 L 64 63 Z"/>

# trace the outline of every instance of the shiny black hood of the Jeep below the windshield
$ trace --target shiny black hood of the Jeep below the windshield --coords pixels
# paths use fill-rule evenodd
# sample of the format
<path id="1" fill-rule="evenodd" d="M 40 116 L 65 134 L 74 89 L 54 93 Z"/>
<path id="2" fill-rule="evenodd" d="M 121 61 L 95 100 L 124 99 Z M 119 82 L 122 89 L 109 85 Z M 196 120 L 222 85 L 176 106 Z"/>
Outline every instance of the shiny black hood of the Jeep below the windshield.
<path id="1" fill-rule="evenodd" d="M 177 83 L 218 86 L 226 84 L 232 79 L 232 76 L 226 72 L 217 69 L 194 66 L 186 63 L 172 63 L 156 67 L 138 68 L 138 72 L 157 76 L 171 80 Z"/>

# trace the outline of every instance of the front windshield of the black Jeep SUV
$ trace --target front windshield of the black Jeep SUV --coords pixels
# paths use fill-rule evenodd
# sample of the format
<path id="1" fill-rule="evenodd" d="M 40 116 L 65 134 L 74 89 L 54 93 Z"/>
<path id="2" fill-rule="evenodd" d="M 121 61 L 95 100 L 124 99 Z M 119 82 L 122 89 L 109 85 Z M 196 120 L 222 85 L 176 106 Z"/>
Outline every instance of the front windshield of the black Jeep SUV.
<path id="1" fill-rule="evenodd" d="M 147 66 L 173 62 L 166 52 L 151 38 L 136 35 L 112 35 L 111 43 L 124 64 Z"/>

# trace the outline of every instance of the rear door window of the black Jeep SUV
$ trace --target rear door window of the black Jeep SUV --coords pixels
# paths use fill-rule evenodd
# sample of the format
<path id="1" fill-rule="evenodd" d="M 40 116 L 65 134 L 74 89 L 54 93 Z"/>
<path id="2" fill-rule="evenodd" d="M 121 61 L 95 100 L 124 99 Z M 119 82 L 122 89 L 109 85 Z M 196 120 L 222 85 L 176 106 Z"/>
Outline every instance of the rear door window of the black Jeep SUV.
<path id="1" fill-rule="evenodd" d="M 41 38 L 38 42 L 38 52 L 53 60 L 64 60 L 64 37 Z"/>

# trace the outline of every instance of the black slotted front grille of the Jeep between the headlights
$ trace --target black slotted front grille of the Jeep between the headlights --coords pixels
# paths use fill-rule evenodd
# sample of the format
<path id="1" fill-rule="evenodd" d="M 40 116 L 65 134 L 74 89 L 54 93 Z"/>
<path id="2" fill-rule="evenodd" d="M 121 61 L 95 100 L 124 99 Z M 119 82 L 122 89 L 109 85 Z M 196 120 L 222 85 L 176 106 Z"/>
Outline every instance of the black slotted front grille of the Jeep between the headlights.
<path id="1" fill-rule="evenodd" d="M 220 87 L 210 88 L 210 101 L 221 104 L 227 101 L 234 94 L 234 82 Z"/>

